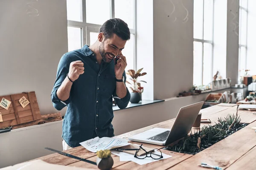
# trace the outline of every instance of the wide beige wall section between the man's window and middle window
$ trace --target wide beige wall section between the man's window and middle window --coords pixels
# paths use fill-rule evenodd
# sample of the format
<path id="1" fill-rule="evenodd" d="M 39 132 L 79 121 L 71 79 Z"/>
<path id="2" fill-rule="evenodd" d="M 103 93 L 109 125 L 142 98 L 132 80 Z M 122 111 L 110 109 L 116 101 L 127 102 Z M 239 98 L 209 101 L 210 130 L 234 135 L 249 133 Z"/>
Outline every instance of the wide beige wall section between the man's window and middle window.
<path id="1" fill-rule="evenodd" d="M 153 14 L 154 99 L 165 99 L 193 86 L 193 1 L 154 0 Z"/>

